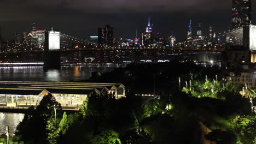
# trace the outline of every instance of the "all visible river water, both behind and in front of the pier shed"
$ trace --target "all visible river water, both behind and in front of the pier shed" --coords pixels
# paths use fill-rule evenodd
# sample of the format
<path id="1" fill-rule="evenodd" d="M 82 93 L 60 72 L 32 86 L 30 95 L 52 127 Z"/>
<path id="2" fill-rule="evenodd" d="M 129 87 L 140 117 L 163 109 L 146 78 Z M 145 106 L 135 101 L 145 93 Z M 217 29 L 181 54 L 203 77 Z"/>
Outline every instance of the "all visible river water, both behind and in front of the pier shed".
<path id="1" fill-rule="evenodd" d="M 91 77 L 92 72 L 105 73 L 116 66 L 61 67 L 60 70 L 44 71 L 43 67 L 0 67 L 0 81 L 80 81 Z M 8 125 L 14 133 L 17 125 L 24 118 L 23 113 L 0 112 L 0 133 Z"/>

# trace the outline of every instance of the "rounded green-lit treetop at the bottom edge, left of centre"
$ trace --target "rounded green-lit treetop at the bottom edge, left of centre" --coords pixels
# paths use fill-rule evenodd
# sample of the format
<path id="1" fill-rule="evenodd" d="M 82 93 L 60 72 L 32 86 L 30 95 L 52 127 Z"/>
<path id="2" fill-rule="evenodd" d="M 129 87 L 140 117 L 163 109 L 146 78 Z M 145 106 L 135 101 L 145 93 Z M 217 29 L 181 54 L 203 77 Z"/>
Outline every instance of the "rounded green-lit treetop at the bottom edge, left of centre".
<path id="1" fill-rule="evenodd" d="M 117 132 L 104 130 L 92 138 L 91 144 L 121 144 L 121 141 Z"/>

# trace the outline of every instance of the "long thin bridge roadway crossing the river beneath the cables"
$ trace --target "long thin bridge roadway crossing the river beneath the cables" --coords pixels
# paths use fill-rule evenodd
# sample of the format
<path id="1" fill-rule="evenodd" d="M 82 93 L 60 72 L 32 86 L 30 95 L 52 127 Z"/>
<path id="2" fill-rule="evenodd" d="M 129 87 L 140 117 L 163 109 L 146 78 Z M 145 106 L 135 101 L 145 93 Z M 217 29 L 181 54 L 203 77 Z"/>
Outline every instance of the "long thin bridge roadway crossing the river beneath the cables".
<path id="1" fill-rule="evenodd" d="M 111 51 L 111 50 L 162 50 L 162 51 L 172 51 L 172 52 L 200 52 L 200 51 L 207 51 L 207 52 L 222 52 L 224 51 L 224 48 L 158 48 L 158 47 L 120 47 L 120 48 L 98 48 L 98 47 L 92 47 L 92 48 L 72 48 L 72 49 L 60 49 L 60 50 L 51 50 L 51 51 Z M 15 53 L 37 53 L 37 52 L 43 52 L 43 50 L 28 50 L 28 51 L 9 51 L 9 52 L 0 52 L 0 55 L 4 54 L 15 54 Z"/>

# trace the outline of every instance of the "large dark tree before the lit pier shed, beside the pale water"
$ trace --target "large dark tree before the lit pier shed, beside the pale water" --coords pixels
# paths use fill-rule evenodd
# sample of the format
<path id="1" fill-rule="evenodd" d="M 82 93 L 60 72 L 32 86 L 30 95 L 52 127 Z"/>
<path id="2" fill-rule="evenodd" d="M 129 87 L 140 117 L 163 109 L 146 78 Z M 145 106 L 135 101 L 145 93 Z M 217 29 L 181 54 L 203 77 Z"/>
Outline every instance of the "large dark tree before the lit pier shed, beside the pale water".
<path id="1" fill-rule="evenodd" d="M 53 121 L 54 106 L 56 106 L 56 109 L 61 109 L 61 105 L 53 95 L 45 95 L 36 110 L 30 107 L 19 124 L 16 134 L 21 135 L 21 139 L 27 144 L 48 143 L 49 130 L 46 129 L 46 126 Z"/>

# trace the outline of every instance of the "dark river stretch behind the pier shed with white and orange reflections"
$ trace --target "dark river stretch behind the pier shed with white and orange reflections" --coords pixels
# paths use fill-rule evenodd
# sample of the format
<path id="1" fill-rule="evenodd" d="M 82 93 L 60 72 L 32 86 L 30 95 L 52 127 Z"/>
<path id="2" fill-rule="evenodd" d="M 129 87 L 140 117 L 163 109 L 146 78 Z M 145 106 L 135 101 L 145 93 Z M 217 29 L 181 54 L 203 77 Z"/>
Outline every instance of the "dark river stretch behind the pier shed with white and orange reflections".
<path id="1" fill-rule="evenodd" d="M 0 80 L 10 81 L 79 81 L 91 77 L 94 71 L 105 73 L 116 67 L 61 67 L 44 71 L 43 67 L 0 67 Z"/>

